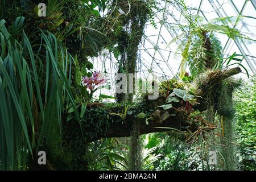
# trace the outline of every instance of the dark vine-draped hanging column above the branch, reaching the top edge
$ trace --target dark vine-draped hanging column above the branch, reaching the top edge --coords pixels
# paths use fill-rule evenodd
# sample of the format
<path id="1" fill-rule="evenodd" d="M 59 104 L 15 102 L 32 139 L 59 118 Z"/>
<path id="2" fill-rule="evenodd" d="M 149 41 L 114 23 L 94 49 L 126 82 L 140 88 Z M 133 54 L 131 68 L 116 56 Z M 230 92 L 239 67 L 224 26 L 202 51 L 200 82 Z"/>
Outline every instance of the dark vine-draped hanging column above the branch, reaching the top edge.
<path id="1" fill-rule="evenodd" d="M 115 7 L 116 6 L 116 7 Z M 139 44 L 142 42 L 144 28 L 151 13 L 146 1 L 114 1 L 116 13 L 121 9 L 126 15 L 119 16 L 123 24 L 122 36 L 118 45 L 121 46 L 121 56 L 118 60 L 118 73 L 137 73 Z M 127 80 L 129 82 L 129 78 Z M 134 94 L 116 94 L 117 102 L 133 101 Z"/>

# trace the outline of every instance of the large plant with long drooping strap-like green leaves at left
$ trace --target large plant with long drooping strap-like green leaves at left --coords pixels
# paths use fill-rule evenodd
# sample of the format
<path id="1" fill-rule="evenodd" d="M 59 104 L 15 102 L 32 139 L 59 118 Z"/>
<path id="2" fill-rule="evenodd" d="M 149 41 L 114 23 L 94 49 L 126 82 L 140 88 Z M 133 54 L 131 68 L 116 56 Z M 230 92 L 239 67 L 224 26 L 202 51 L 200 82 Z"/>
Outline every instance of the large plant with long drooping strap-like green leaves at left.
<path id="1" fill-rule="evenodd" d="M 10 31 L 5 23 L 0 21 L 1 169 L 26 169 L 53 121 L 61 128 L 65 103 L 77 113 L 67 79 L 72 57 L 50 32 L 35 30 L 38 39 L 31 42 L 24 17 L 16 18 Z"/>

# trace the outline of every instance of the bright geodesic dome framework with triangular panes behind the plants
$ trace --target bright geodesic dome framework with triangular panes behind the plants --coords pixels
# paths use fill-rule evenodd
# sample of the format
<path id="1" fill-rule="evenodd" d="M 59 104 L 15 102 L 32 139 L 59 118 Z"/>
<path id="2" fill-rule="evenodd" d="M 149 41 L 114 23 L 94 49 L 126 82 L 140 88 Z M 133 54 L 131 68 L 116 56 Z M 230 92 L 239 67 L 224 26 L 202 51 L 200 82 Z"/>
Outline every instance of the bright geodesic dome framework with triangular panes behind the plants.
<path id="1" fill-rule="evenodd" d="M 188 22 L 183 13 L 184 7 L 180 3 L 172 2 L 175 1 L 159 1 L 159 7 L 163 11 L 155 14 L 156 27 L 152 26 L 150 22 L 146 26 L 138 57 L 137 69 L 141 78 L 147 78 L 150 75 L 156 75 L 159 78 L 172 78 L 179 72 L 182 59 L 181 50 L 178 49 L 177 43 L 170 44 L 170 42 L 182 34 L 183 30 L 180 25 L 187 26 Z M 214 35 L 221 41 L 223 57 L 228 57 L 234 52 L 243 55 L 241 64 L 247 69 L 250 76 L 254 75 L 256 72 L 256 55 L 253 52 L 256 49 L 256 35 L 254 34 L 256 32 L 256 1 L 184 0 L 184 3 L 189 15 L 199 16 L 203 23 L 208 23 L 212 19 L 232 18 L 232 22 L 224 24 L 224 26 L 236 28 L 246 35 L 246 39 L 231 39 L 219 32 L 214 32 Z M 94 68 L 102 72 L 106 69 L 114 84 L 117 60 L 113 54 L 106 51 L 91 60 L 95 65 Z M 188 68 L 187 71 L 189 72 Z M 247 78 L 244 69 L 239 76 Z"/>

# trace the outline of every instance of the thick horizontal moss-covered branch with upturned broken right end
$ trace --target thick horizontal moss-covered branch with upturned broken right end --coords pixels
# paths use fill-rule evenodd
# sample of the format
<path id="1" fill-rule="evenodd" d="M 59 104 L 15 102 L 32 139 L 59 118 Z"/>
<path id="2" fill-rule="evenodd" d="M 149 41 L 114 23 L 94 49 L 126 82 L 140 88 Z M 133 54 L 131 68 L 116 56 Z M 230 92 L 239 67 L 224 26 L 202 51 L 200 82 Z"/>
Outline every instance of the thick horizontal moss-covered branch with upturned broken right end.
<path id="1" fill-rule="evenodd" d="M 180 102 L 175 103 L 171 109 L 159 110 L 157 106 L 165 104 L 166 98 L 162 96 L 159 96 L 158 100 L 143 100 L 130 106 L 126 104 L 104 106 L 94 103 L 88 107 L 87 113 L 85 113 L 85 117 L 87 115 L 88 118 L 84 118 L 83 130 L 85 134 L 90 133 L 90 136 L 85 137 L 85 142 L 88 143 L 109 137 L 129 137 L 134 120 L 140 123 L 140 134 L 171 130 L 163 127 L 176 130 L 196 130 L 195 123 L 191 123 L 191 111 L 193 109 L 204 111 L 207 108 L 204 96 L 208 90 L 213 88 L 213 85 L 218 85 L 226 78 L 237 75 L 240 72 L 240 68 L 209 72 L 198 88 L 197 95 L 200 96 L 198 97 L 200 104 L 193 106 L 192 109 L 186 109 L 185 105 Z M 139 113 L 144 113 L 144 117 L 138 118 Z M 146 118 L 148 125 L 146 124 Z M 197 118 L 197 120 L 203 121 L 205 127 L 213 127 L 204 118 Z M 77 122 L 73 121 L 69 124 L 68 128 L 71 131 L 74 130 L 74 123 Z M 75 128 L 79 132 L 79 127 L 75 125 Z"/>

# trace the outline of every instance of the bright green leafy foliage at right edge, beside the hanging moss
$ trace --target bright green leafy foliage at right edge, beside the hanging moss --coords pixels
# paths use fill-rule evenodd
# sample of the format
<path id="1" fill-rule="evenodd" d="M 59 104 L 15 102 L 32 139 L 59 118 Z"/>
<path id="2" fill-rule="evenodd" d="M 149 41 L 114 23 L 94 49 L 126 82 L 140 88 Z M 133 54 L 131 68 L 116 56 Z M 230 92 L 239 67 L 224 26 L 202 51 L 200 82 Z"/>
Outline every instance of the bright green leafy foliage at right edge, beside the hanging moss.
<path id="1" fill-rule="evenodd" d="M 242 170 L 256 170 L 256 78 L 236 94 L 238 160 Z"/>

